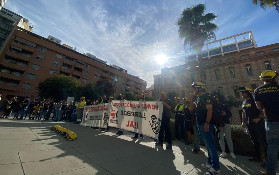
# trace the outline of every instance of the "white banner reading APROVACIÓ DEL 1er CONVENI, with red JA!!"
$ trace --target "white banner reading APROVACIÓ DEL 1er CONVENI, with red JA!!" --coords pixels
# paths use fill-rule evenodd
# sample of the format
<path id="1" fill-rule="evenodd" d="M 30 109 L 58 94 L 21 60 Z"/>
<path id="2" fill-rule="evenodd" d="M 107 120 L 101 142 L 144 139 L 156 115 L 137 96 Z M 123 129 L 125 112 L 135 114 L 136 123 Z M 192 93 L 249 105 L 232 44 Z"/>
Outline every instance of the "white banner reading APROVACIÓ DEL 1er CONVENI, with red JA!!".
<path id="1" fill-rule="evenodd" d="M 162 112 L 162 102 L 114 100 L 108 126 L 158 139 Z"/>

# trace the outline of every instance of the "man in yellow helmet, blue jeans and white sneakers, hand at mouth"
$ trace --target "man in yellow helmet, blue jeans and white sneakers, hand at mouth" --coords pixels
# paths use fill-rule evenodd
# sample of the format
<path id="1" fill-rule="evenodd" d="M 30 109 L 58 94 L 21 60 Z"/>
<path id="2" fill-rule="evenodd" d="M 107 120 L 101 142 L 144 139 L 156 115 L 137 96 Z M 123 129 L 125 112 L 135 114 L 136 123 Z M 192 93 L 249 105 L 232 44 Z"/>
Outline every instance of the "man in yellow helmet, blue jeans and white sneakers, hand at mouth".
<path id="1" fill-rule="evenodd" d="M 213 119 L 213 101 L 206 94 L 206 85 L 201 82 L 193 82 L 193 92 L 190 94 L 190 106 L 196 111 L 197 125 L 201 139 L 208 152 L 208 160 L 201 167 L 208 169 L 205 175 L 220 174 L 220 162 L 216 147 L 213 141 L 214 119 Z M 194 94 L 199 97 L 193 102 Z"/>

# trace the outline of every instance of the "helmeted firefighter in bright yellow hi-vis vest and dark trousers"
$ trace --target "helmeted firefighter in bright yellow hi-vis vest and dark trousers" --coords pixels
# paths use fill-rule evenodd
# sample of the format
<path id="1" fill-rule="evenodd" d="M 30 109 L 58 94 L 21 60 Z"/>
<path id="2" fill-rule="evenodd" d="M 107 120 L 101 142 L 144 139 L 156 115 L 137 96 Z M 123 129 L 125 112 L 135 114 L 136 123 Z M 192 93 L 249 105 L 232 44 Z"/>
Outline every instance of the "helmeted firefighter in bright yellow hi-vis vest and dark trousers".
<path id="1" fill-rule="evenodd" d="M 181 140 L 182 142 L 184 142 L 184 115 L 182 114 L 183 104 L 181 104 L 181 98 L 174 97 L 174 103 L 177 104 L 174 110 L 175 137 L 176 140 Z M 181 138 L 179 137 L 179 126 L 181 129 Z"/>

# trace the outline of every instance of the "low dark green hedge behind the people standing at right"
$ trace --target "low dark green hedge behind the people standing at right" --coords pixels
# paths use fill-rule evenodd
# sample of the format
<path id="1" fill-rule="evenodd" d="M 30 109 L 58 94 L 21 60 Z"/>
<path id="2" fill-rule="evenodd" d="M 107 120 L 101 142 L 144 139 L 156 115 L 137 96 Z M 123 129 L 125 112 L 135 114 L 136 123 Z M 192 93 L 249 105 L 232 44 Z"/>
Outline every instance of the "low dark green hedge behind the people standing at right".
<path id="1" fill-rule="evenodd" d="M 175 139 L 174 119 L 171 119 L 171 121 L 170 121 L 170 130 L 171 130 L 171 134 L 172 134 L 172 139 Z M 186 132 L 185 132 L 185 136 L 186 136 Z M 231 125 L 231 139 L 233 141 L 233 149 L 234 149 L 235 154 L 241 155 L 241 156 L 253 157 L 252 141 L 250 139 L 249 134 L 245 134 L 241 126 Z M 217 151 L 222 151 L 220 144 L 219 144 L 217 132 L 216 132 L 216 136 L 214 137 L 214 143 L 215 143 Z M 202 141 L 201 141 L 201 145 L 204 145 L 204 143 Z M 226 145 L 226 152 L 229 153 L 226 139 L 225 139 L 225 145 Z M 262 156 L 265 157 L 263 149 L 262 149 Z M 278 160 L 279 160 L 279 154 L 278 154 Z"/>

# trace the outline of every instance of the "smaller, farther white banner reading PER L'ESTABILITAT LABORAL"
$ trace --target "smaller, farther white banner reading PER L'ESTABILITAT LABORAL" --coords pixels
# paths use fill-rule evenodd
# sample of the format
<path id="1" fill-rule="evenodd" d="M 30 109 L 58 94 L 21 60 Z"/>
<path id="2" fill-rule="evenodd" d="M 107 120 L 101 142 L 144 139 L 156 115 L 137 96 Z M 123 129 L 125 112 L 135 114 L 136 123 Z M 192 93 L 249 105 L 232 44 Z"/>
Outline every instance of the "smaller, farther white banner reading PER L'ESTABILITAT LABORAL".
<path id="1" fill-rule="evenodd" d="M 84 106 L 83 119 L 80 125 L 106 128 L 109 113 L 109 103 L 95 106 Z"/>

